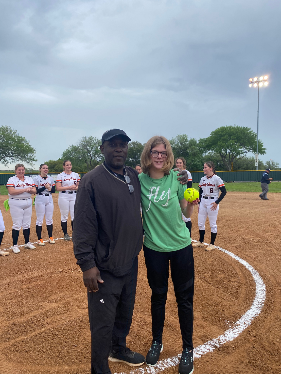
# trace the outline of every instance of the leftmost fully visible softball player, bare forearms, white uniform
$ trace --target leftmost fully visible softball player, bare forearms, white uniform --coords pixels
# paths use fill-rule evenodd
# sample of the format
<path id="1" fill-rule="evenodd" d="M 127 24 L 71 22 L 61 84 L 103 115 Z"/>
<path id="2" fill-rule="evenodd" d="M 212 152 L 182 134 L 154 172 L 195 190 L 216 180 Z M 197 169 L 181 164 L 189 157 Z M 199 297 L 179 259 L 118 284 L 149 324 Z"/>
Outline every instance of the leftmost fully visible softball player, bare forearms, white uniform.
<path id="1" fill-rule="evenodd" d="M 32 178 L 24 176 L 24 165 L 16 164 L 15 173 L 14 177 L 9 178 L 6 188 L 9 192 L 9 207 L 13 221 L 13 252 L 19 253 L 18 236 L 21 227 L 25 240 L 25 248 L 36 248 L 29 241 L 32 214 L 31 195 L 36 194 L 36 188 Z"/>

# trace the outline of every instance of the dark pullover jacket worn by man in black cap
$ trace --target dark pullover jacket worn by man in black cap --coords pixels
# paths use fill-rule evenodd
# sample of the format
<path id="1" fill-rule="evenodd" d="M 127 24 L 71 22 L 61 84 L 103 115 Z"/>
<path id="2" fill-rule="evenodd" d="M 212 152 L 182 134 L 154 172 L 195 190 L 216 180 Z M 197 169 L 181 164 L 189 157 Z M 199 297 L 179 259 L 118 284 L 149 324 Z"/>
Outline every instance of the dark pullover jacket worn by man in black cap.
<path id="1" fill-rule="evenodd" d="M 115 276 L 126 275 L 142 249 L 141 185 L 126 166 L 127 183 L 104 165 L 84 175 L 74 207 L 72 240 L 77 264 L 84 272 L 97 266 Z"/>

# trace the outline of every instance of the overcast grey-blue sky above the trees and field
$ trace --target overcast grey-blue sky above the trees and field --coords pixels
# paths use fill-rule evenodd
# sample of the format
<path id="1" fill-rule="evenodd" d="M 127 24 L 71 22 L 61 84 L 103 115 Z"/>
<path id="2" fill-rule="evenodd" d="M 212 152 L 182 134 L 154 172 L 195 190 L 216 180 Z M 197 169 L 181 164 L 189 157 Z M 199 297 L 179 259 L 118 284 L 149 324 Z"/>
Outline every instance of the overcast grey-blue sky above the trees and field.
<path id="1" fill-rule="evenodd" d="M 36 165 L 111 128 L 141 142 L 257 131 L 248 84 L 265 74 L 260 159 L 281 164 L 280 1 L 1 3 L 1 124 L 30 140 Z"/>

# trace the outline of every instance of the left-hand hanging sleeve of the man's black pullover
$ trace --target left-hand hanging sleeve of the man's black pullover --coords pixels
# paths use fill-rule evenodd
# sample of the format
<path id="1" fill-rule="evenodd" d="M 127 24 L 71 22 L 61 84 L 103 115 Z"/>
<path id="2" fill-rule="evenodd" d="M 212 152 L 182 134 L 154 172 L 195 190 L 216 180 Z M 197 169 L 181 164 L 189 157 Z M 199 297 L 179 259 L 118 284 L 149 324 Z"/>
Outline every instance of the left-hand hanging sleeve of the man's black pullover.
<path id="1" fill-rule="evenodd" d="M 84 179 L 85 178 L 85 179 Z M 76 264 L 82 272 L 92 269 L 95 263 L 95 247 L 98 236 L 97 212 L 94 208 L 94 192 L 90 183 L 82 178 L 79 183 L 74 205 L 73 251 Z"/>

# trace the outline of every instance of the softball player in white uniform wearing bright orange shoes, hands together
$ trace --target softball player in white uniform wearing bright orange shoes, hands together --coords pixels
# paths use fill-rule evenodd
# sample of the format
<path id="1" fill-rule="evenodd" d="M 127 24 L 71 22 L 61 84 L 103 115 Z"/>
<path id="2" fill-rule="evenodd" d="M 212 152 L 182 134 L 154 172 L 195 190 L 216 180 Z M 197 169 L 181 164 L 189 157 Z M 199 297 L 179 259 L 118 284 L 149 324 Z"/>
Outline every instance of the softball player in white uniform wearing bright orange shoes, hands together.
<path id="1" fill-rule="evenodd" d="M 52 193 L 55 193 L 55 182 L 53 178 L 48 175 L 49 169 L 46 164 L 40 165 L 39 170 L 40 174 L 33 179 L 37 191 L 34 201 L 37 218 L 35 227 L 38 238 L 37 243 L 40 246 L 44 246 L 45 243 L 42 239 L 42 224 L 44 215 L 49 236 L 48 242 L 50 244 L 55 244 L 53 238 L 54 203 L 52 198 Z"/>

